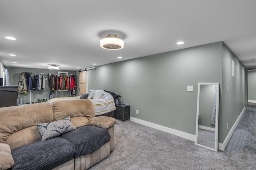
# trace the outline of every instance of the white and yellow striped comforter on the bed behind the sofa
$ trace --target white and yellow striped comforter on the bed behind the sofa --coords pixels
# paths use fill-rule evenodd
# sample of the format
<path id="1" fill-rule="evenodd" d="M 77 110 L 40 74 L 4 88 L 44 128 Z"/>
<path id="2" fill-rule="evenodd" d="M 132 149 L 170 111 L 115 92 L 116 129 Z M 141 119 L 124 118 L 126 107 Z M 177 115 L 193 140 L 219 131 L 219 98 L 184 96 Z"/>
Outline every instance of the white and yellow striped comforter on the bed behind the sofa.
<path id="1" fill-rule="evenodd" d="M 80 96 L 75 96 L 75 97 L 64 97 L 64 98 L 52 98 L 47 100 L 46 102 L 52 104 L 54 102 L 62 101 L 62 100 L 78 100 L 78 99 L 85 100 L 85 99 L 80 99 Z M 105 92 L 99 99 L 90 99 L 90 101 L 94 106 L 96 116 L 108 113 L 116 109 L 113 97 L 107 92 Z"/>

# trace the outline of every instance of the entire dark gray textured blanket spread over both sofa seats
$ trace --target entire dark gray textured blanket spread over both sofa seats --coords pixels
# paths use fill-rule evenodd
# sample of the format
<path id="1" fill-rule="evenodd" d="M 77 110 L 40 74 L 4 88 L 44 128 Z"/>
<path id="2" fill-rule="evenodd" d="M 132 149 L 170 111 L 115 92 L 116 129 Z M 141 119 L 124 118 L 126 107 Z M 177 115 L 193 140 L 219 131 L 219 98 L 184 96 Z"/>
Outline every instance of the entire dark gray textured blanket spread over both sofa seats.
<path id="1" fill-rule="evenodd" d="M 12 150 L 12 170 L 51 170 L 72 158 L 94 152 L 110 141 L 107 129 L 86 125 L 46 141 Z"/>

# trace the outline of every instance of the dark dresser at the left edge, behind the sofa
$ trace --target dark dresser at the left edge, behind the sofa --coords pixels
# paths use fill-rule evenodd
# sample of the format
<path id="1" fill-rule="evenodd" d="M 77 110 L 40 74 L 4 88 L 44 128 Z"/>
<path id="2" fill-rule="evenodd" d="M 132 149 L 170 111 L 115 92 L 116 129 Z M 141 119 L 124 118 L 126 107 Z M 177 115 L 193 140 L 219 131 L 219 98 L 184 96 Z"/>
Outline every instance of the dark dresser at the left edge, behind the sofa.
<path id="1" fill-rule="evenodd" d="M 17 106 L 18 86 L 0 86 L 0 107 Z"/>

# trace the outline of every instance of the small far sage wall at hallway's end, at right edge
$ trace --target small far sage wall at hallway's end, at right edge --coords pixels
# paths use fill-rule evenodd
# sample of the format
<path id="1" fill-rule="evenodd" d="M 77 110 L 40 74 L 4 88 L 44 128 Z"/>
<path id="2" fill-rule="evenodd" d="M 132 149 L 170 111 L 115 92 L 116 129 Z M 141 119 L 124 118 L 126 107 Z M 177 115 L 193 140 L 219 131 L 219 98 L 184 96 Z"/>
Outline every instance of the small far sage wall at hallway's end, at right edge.
<path id="1" fill-rule="evenodd" d="M 256 100 L 256 71 L 248 71 L 248 100 Z"/>

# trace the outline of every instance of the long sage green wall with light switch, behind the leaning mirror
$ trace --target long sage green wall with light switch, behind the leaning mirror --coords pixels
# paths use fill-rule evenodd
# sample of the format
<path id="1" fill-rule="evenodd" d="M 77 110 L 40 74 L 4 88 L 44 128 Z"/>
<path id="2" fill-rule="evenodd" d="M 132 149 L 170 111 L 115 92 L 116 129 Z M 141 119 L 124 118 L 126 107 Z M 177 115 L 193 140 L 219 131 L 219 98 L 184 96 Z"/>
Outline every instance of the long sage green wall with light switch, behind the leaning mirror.
<path id="1" fill-rule="evenodd" d="M 97 66 L 88 72 L 88 90 L 119 94 L 131 106 L 131 117 L 192 135 L 198 82 L 222 84 L 222 42 Z M 187 92 L 188 85 L 194 86 L 193 92 Z"/>

